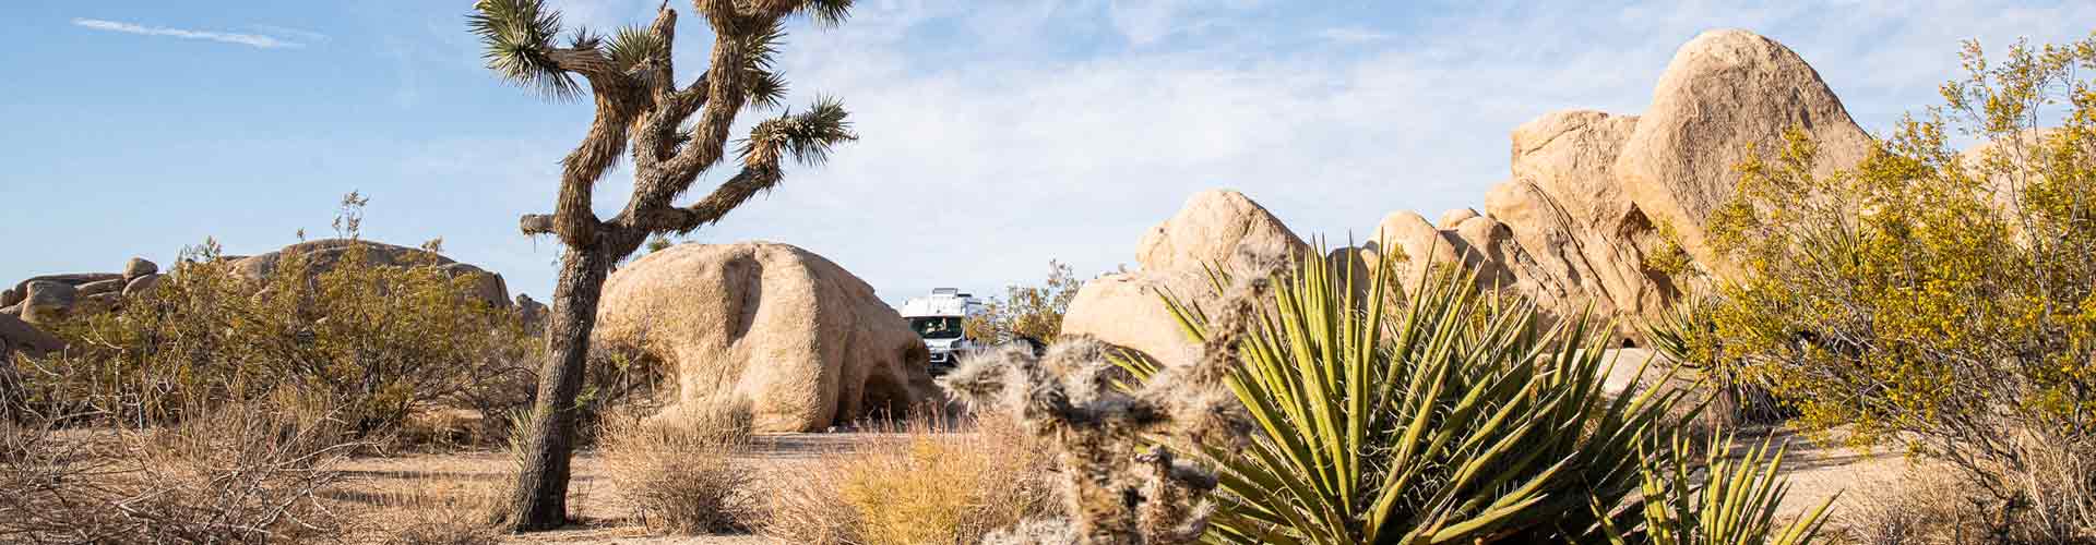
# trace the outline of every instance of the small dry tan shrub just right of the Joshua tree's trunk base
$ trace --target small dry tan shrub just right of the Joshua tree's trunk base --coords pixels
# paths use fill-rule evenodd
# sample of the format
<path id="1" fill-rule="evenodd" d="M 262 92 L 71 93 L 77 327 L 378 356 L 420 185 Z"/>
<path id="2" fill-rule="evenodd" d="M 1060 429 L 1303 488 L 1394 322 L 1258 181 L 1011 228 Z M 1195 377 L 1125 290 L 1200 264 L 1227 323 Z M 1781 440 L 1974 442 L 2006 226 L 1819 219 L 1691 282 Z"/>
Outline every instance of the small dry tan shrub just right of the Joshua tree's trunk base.
<path id="1" fill-rule="evenodd" d="M 746 530 L 759 516 L 750 467 L 750 407 L 690 407 L 654 419 L 610 417 L 597 455 L 633 516 L 656 532 Z"/>

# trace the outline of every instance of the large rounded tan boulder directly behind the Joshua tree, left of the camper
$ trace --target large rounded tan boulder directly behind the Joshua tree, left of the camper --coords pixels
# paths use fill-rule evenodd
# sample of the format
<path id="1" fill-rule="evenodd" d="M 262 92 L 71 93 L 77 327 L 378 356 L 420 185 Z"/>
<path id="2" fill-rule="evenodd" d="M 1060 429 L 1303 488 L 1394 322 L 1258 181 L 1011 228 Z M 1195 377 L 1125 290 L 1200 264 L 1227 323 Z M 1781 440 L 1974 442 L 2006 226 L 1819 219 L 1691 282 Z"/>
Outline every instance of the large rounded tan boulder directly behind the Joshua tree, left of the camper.
<path id="1" fill-rule="evenodd" d="M 874 289 L 782 243 L 675 245 L 604 283 L 595 340 L 675 369 L 685 407 L 748 402 L 761 432 L 820 432 L 937 398 L 929 350 Z"/>

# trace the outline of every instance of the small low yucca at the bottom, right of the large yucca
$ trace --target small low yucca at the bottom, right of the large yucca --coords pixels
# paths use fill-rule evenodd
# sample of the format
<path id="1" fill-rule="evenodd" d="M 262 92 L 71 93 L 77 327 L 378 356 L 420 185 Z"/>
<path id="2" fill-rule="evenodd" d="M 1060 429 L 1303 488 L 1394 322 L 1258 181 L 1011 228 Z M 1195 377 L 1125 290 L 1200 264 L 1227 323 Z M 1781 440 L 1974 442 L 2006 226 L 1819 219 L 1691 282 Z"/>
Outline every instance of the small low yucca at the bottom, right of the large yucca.
<path id="1" fill-rule="evenodd" d="M 1643 461 L 1643 503 L 1645 526 L 1620 530 L 1603 526 L 1610 543 L 1631 545 L 1717 545 L 1717 543 L 1769 543 L 1800 545 L 1811 543 L 1828 522 L 1828 497 L 1805 516 L 1777 526 L 1775 507 L 1790 490 L 1790 482 L 1775 476 L 1784 465 L 1788 446 L 1769 453 L 1769 440 L 1752 446 L 1740 459 L 1727 459 L 1733 438 L 1710 432 L 1710 449 L 1702 463 L 1691 463 L 1687 434 L 1675 432 L 1664 453 L 1668 457 L 1645 457 Z M 1696 472 L 1704 478 L 1698 480 Z M 1606 505 L 1595 503 L 1595 511 Z"/>

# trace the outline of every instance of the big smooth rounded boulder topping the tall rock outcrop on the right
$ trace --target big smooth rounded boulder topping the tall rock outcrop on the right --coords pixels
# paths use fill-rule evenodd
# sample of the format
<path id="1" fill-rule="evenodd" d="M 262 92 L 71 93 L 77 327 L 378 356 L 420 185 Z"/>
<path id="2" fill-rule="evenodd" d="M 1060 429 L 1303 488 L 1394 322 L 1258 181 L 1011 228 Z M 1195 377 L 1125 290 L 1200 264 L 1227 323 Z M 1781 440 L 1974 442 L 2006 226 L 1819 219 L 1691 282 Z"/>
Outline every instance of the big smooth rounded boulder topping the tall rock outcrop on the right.
<path id="1" fill-rule="evenodd" d="M 1821 174 L 1853 168 L 1872 147 L 1796 52 L 1742 29 L 1704 31 L 1666 65 L 1614 170 L 1645 216 L 1673 224 L 1698 264 L 1727 275 L 1704 222 L 1731 199 L 1746 147 L 1780 151 L 1788 128 L 1819 143 Z"/>

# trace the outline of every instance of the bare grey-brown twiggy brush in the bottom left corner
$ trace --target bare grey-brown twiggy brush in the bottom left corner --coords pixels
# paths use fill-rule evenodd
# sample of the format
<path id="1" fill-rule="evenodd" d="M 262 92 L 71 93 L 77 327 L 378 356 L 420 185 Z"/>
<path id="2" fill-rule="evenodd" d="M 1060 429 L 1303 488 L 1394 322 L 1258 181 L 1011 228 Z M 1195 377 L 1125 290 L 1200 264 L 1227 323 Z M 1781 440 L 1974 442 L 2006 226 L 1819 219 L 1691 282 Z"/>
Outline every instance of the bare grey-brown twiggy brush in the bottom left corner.
<path id="1" fill-rule="evenodd" d="M 260 402 L 155 430 L 21 430 L 0 444 L 6 543 L 333 539 L 342 520 L 316 493 L 361 446 L 346 421 Z"/>

